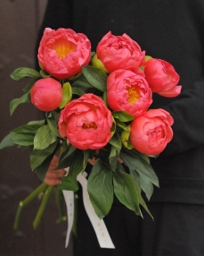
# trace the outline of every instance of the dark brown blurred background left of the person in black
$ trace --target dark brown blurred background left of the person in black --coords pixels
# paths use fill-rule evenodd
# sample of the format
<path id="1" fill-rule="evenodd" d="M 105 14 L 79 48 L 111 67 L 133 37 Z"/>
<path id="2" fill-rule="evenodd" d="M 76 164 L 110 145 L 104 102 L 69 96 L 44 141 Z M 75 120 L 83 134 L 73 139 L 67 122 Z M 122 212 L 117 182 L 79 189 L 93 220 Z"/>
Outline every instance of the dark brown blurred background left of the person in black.
<path id="1" fill-rule="evenodd" d="M 35 43 L 47 0 L 0 1 L 0 141 L 14 128 L 31 120 L 40 120 L 41 113 L 31 104 L 23 104 L 10 116 L 9 103 L 20 98 L 27 81 L 12 81 L 10 74 L 18 67 L 35 68 Z M 64 248 L 67 223 L 56 224 L 58 218 L 54 195 L 45 209 L 37 230 L 32 227 L 39 201 L 32 201 L 24 210 L 20 229 L 13 221 L 19 202 L 41 182 L 29 167 L 28 150 L 12 147 L 0 150 L 0 255 L 54 256 L 72 255 Z"/>

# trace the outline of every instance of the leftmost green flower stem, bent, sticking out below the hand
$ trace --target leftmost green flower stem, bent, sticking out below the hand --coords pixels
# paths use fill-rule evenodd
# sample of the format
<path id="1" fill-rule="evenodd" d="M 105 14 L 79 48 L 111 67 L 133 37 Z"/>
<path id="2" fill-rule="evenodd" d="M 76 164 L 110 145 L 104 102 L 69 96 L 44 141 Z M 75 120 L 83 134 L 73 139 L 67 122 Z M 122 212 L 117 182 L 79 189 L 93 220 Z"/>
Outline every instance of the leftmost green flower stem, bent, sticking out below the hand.
<path id="1" fill-rule="evenodd" d="M 17 213 L 15 216 L 14 224 L 13 224 L 13 229 L 18 230 L 20 226 L 20 218 L 22 215 L 23 209 L 29 204 L 30 201 L 32 201 L 40 192 L 44 192 L 45 189 L 47 188 L 46 183 L 40 184 L 37 189 L 34 192 L 31 192 L 29 196 L 24 200 L 20 201 L 19 203 L 19 208 L 17 209 Z"/>

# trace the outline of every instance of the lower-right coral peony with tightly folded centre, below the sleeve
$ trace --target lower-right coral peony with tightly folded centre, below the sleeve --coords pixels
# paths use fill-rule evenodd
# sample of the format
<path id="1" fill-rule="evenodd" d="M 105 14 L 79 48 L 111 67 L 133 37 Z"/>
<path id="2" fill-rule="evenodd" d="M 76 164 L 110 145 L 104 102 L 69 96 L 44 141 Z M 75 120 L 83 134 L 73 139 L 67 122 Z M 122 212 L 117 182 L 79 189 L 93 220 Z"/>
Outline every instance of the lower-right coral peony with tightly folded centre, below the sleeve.
<path id="1" fill-rule="evenodd" d="M 138 151 L 157 156 L 172 140 L 173 132 L 170 126 L 173 123 L 172 116 L 166 110 L 151 109 L 133 120 L 130 125 L 130 141 Z"/>

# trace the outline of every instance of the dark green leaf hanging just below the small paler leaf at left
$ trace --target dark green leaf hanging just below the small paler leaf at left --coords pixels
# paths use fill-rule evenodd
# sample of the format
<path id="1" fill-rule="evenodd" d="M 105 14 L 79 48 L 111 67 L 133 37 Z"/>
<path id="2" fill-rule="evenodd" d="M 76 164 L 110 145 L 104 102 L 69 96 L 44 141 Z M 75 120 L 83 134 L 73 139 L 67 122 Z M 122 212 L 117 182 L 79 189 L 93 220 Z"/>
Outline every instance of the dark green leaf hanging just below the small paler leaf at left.
<path id="1" fill-rule="evenodd" d="M 34 170 L 37 166 L 40 166 L 47 157 L 53 154 L 53 151 L 56 149 L 59 141 L 53 142 L 46 149 L 33 149 L 29 154 L 30 166 Z"/>

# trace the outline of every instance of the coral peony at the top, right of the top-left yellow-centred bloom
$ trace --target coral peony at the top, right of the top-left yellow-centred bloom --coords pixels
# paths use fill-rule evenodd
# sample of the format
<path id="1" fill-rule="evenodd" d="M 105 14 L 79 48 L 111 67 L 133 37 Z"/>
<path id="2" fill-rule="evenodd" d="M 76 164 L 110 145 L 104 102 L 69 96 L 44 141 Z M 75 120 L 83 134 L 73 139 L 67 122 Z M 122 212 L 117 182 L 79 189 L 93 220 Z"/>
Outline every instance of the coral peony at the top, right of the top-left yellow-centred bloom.
<path id="1" fill-rule="evenodd" d="M 111 32 L 99 42 L 96 54 L 109 73 L 128 66 L 141 66 L 145 55 L 141 47 L 126 34 L 113 36 Z"/>

